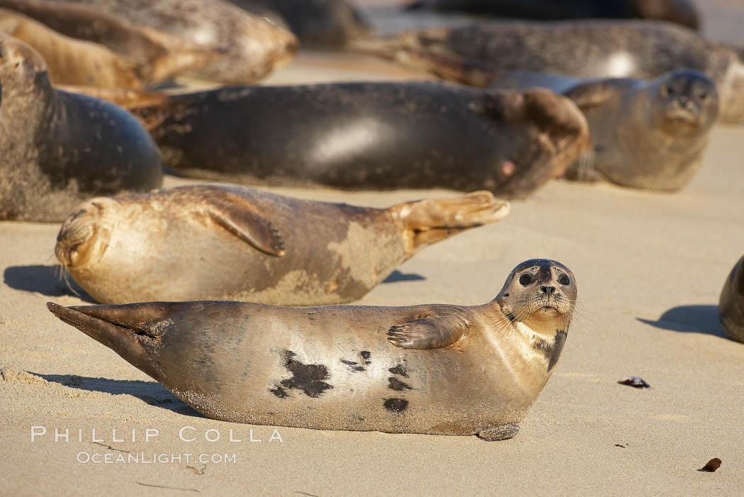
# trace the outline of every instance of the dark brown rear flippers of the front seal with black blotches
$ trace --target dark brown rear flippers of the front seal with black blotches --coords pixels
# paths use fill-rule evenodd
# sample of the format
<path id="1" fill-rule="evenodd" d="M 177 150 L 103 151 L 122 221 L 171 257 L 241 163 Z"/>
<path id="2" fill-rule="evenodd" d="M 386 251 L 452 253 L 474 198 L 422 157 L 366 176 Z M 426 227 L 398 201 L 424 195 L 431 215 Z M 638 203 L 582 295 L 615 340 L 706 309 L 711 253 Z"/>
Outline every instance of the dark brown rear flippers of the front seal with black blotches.
<path id="1" fill-rule="evenodd" d="M 150 351 L 168 323 L 168 304 L 124 304 L 63 307 L 47 302 L 47 309 L 66 324 L 114 350 L 136 368 L 158 379 Z"/>

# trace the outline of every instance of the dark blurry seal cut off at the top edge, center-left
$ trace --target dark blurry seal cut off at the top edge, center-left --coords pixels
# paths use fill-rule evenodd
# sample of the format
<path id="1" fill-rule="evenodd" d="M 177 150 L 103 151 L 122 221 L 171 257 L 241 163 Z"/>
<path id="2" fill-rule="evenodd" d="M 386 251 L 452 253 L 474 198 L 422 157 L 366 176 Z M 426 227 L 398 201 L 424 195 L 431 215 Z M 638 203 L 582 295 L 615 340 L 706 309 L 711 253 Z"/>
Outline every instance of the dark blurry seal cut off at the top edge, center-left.
<path id="1" fill-rule="evenodd" d="M 342 47 L 371 33 L 362 13 L 344 0 L 229 0 L 248 12 L 269 10 L 285 19 L 303 47 Z"/>

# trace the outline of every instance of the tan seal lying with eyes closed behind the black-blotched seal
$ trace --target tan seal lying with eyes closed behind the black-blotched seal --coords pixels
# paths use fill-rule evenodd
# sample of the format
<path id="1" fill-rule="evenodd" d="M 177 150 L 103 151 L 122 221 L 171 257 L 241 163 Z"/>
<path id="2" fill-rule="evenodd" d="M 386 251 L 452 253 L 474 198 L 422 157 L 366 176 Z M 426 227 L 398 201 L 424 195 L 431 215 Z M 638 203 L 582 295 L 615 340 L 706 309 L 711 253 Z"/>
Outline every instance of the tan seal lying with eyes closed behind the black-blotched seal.
<path id="1" fill-rule="evenodd" d="M 423 247 L 508 213 L 486 191 L 377 209 L 194 185 L 91 199 L 54 252 L 100 303 L 340 304 Z"/>

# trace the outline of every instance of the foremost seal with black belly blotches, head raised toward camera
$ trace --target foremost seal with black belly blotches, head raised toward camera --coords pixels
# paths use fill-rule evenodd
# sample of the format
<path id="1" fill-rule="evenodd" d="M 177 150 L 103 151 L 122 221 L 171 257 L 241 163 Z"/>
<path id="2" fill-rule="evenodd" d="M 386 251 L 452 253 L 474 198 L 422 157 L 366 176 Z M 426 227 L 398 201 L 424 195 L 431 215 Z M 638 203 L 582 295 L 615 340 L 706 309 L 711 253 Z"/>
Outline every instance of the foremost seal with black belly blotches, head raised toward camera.
<path id="1" fill-rule="evenodd" d="M 47 306 L 206 417 L 504 440 L 555 370 L 576 295 L 568 268 L 527 260 L 474 307 Z"/>

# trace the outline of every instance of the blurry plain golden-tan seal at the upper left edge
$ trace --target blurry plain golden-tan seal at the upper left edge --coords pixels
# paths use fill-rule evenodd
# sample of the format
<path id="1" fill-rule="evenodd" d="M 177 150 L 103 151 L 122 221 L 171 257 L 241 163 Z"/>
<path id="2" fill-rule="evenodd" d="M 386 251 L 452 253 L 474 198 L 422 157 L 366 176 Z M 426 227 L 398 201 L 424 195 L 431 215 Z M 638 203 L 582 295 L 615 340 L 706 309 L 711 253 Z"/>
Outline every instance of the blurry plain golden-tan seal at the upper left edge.
<path id="1" fill-rule="evenodd" d="M 47 62 L 54 85 L 141 88 L 132 64 L 103 45 L 70 38 L 20 13 L 0 8 L 0 32 L 28 43 Z"/>

